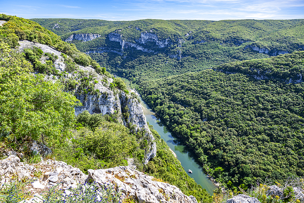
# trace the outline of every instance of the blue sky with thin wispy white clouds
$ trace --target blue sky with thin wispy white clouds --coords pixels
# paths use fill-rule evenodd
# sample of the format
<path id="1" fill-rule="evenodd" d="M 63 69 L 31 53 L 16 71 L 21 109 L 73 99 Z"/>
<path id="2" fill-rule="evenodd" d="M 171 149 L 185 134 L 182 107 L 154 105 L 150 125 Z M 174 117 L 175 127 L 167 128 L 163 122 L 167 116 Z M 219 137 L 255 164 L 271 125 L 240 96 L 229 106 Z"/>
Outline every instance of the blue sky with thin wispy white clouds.
<path id="1" fill-rule="evenodd" d="M 0 13 L 27 19 L 304 19 L 304 0 L 0 0 Z"/>

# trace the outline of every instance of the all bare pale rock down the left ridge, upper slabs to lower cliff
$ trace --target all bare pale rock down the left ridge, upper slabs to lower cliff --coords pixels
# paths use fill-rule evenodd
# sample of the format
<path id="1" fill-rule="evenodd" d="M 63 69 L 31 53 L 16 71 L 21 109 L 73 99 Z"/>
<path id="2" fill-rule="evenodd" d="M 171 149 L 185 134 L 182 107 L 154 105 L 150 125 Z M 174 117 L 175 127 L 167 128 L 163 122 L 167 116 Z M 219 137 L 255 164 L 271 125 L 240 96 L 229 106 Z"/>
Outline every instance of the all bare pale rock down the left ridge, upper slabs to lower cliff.
<path id="1" fill-rule="evenodd" d="M 20 41 L 19 51 L 25 48 L 31 48 L 32 46 L 40 47 L 44 53 L 54 53 L 58 56 L 58 59 L 54 62 L 55 68 L 59 72 L 64 72 L 65 64 L 64 59 L 61 56 L 61 52 L 47 46 L 44 44 L 33 44 L 29 41 Z M 44 63 L 42 58 L 42 63 Z M 143 109 L 141 104 L 134 99 L 132 96 L 127 95 L 125 92 L 119 89 L 109 88 L 109 84 L 113 82 L 112 78 L 107 78 L 105 75 L 99 75 L 95 70 L 89 66 L 79 66 L 79 69 L 87 74 L 94 74 L 96 77 L 95 89 L 99 90 L 99 94 L 76 94 L 76 98 L 81 101 L 82 106 L 75 107 L 75 115 L 88 110 L 90 114 L 114 114 L 118 113 L 120 118 L 120 123 L 124 124 L 126 127 L 134 126 L 136 131 L 142 131 L 143 137 L 141 139 L 147 140 L 147 147 L 145 151 L 144 163 L 147 164 L 148 161 L 156 156 L 156 143 L 155 139 L 147 125 L 147 120 L 143 114 Z M 58 79 L 57 76 L 54 76 Z M 75 79 L 79 85 L 81 83 L 78 78 L 78 74 L 66 74 L 66 78 Z M 46 76 L 46 79 L 53 79 L 53 76 Z M 106 81 L 106 82 L 105 82 Z M 79 86 L 78 85 L 78 86 Z M 77 92 L 77 87 L 74 89 Z M 128 115 L 124 117 L 123 115 Z"/>

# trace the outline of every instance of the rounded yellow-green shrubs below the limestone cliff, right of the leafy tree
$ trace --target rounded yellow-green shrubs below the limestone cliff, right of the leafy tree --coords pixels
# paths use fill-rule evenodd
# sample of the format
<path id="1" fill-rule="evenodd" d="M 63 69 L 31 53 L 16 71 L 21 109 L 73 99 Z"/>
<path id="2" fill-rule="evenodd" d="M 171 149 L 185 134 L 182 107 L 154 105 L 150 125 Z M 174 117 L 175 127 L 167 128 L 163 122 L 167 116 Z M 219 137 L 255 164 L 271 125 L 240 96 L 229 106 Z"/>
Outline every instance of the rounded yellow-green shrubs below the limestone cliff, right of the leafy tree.
<path id="1" fill-rule="evenodd" d="M 129 129 L 115 123 L 116 115 L 78 115 L 78 131 L 72 142 L 62 141 L 54 150 L 55 157 L 80 168 L 111 168 L 127 165 L 126 158 L 139 148 L 136 137 Z M 113 122 L 114 121 L 114 122 Z"/>

